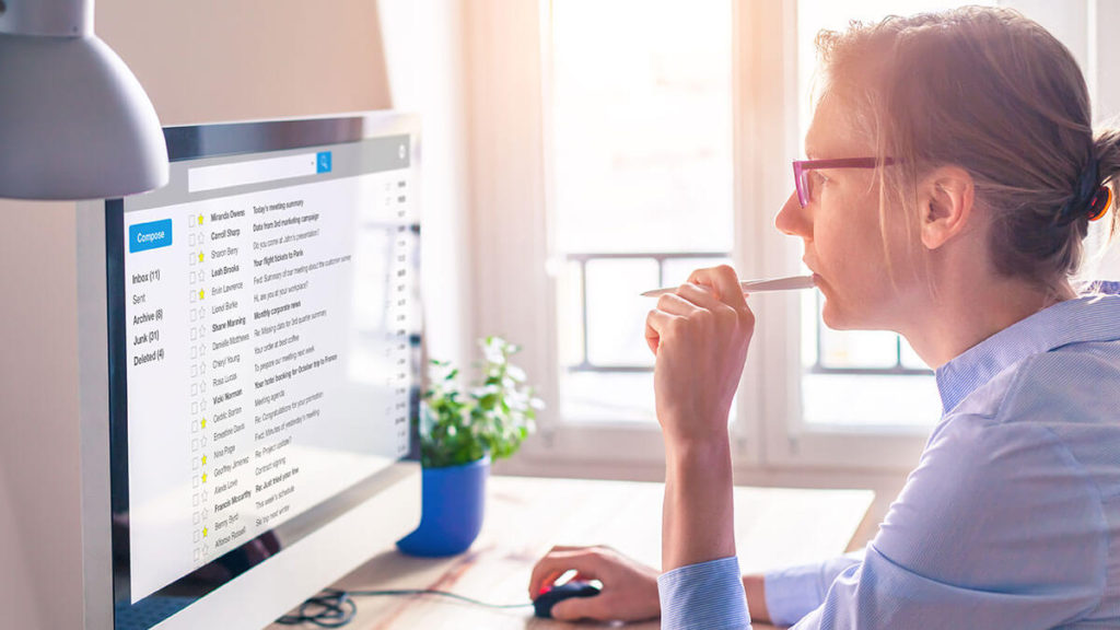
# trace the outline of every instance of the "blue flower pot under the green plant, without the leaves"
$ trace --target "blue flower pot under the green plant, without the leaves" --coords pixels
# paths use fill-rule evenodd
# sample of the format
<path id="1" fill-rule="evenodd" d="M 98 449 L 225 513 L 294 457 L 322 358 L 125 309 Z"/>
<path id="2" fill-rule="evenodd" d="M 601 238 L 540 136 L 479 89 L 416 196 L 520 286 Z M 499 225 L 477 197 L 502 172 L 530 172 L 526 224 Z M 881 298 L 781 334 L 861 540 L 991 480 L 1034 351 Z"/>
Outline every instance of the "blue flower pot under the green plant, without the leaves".
<path id="1" fill-rule="evenodd" d="M 420 526 L 398 540 L 396 548 L 424 557 L 466 552 L 483 528 L 488 475 L 488 455 L 459 466 L 424 469 Z"/>

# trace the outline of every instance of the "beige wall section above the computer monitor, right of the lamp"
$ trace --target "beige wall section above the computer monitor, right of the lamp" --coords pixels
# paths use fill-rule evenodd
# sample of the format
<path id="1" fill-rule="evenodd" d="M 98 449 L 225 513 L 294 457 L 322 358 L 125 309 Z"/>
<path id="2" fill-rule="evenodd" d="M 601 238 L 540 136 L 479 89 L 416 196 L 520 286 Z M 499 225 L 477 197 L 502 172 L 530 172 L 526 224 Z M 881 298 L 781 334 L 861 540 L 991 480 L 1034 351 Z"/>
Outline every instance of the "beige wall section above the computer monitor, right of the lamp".
<path id="1" fill-rule="evenodd" d="M 391 106 L 372 0 L 97 0 L 164 124 Z"/>

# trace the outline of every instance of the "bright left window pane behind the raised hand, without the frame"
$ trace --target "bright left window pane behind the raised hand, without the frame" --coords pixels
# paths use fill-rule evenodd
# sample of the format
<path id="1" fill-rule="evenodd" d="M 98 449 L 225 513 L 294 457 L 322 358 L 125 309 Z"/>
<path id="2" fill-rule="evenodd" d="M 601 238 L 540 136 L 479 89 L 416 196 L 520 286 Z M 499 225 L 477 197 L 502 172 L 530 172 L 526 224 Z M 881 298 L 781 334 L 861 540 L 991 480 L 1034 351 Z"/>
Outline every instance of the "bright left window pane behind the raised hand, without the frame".
<path id="1" fill-rule="evenodd" d="M 731 3 L 551 3 L 559 415 L 655 426 L 642 290 L 729 260 Z M 550 78 L 548 78 L 550 77 Z"/>

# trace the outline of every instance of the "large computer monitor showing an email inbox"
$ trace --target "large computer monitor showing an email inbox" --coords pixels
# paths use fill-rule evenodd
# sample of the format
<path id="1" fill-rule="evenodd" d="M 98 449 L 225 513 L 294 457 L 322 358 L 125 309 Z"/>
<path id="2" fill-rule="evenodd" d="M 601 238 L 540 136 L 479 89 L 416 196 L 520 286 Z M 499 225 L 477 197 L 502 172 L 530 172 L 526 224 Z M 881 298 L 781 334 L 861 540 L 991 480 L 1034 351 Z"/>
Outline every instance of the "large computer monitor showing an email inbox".
<path id="1" fill-rule="evenodd" d="M 419 520 L 418 124 L 165 135 L 170 183 L 95 204 L 109 457 L 83 453 L 83 519 L 111 522 L 112 619 L 87 627 L 260 628 Z"/>

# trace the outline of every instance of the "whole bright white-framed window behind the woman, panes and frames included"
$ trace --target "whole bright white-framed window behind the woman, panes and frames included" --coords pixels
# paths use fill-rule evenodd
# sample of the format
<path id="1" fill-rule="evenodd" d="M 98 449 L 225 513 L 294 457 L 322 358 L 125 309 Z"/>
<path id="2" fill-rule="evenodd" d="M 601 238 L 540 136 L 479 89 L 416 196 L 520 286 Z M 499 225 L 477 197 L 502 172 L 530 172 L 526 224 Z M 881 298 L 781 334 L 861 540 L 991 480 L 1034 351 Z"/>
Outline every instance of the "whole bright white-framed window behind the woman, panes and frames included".
<path id="1" fill-rule="evenodd" d="M 652 304 L 637 294 L 721 261 L 745 278 L 799 272 L 802 245 L 773 220 L 809 121 L 813 36 L 953 3 L 497 4 L 467 9 L 474 331 L 525 345 L 550 404 L 543 438 L 520 458 L 556 471 L 571 469 L 547 466 L 659 463 L 642 336 Z M 1094 65 L 1120 45 L 1088 26 L 1112 10 L 1070 4 L 1015 3 L 1090 64 L 1105 104 L 1120 103 Z M 932 373 L 896 335 L 824 328 L 819 300 L 752 297 L 758 324 L 730 427 L 737 464 L 909 470 L 940 417 Z"/>

